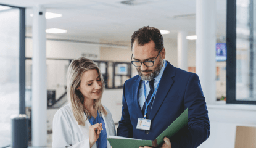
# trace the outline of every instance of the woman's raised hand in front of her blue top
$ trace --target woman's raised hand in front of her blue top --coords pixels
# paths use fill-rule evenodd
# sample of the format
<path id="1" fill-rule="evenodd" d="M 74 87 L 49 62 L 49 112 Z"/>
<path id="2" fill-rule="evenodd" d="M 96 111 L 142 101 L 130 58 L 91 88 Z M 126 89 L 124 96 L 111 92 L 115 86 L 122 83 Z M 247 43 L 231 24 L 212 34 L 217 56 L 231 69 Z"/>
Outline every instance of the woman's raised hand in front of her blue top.
<path id="1" fill-rule="evenodd" d="M 96 131 L 97 130 L 97 131 Z M 89 126 L 89 141 L 90 141 L 90 147 L 92 147 L 97 139 L 99 138 L 99 134 L 101 133 L 102 123 L 97 123 L 95 125 Z"/>

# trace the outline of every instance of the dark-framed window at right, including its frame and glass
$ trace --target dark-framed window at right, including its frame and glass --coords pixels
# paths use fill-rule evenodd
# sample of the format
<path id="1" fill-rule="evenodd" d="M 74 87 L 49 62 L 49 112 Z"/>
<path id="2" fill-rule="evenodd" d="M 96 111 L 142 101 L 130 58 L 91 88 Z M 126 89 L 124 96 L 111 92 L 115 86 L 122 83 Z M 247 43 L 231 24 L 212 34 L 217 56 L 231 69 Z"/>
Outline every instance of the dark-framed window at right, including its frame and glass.
<path id="1" fill-rule="evenodd" d="M 256 0 L 227 6 L 227 103 L 256 104 Z"/>

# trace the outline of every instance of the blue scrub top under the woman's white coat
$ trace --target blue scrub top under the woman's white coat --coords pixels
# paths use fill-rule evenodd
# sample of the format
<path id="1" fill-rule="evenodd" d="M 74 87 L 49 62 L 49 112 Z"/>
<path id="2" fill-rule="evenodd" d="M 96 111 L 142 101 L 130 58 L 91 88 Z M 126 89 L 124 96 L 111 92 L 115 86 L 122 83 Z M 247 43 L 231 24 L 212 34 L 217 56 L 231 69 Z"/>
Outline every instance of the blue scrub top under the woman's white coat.
<path id="1" fill-rule="evenodd" d="M 102 123 L 103 130 L 99 134 L 99 139 L 97 139 L 96 144 L 97 148 L 107 148 L 107 131 L 105 129 L 105 122 L 102 118 L 102 116 L 97 111 L 97 117 L 94 118 L 93 116 L 91 118 L 87 117 L 91 125 L 95 125 L 97 123 Z"/>

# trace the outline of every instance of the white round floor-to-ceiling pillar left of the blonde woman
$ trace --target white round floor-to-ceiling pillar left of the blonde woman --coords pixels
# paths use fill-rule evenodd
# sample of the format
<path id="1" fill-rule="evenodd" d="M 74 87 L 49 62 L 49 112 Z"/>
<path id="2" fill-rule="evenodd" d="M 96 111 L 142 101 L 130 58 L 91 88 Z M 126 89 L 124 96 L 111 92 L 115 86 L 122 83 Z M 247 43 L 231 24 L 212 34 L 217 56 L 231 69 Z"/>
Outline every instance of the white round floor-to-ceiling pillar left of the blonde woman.
<path id="1" fill-rule="evenodd" d="M 32 143 L 33 147 L 47 146 L 46 92 L 46 10 L 33 7 L 32 57 Z"/>

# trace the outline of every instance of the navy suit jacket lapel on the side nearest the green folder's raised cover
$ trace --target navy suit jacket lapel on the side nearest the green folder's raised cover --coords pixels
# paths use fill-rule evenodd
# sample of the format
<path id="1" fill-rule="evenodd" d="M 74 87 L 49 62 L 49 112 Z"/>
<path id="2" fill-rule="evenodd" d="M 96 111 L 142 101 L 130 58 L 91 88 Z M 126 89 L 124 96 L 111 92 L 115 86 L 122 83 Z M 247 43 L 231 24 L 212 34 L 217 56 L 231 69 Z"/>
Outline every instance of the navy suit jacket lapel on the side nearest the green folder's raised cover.
<path id="1" fill-rule="evenodd" d="M 157 113 L 157 111 L 160 109 L 160 106 L 163 103 L 163 100 L 165 99 L 165 96 L 167 96 L 171 86 L 173 85 L 173 79 L 172 77 L 175 76 L 175 68 L 173 65 L 171 65 L 169 62 L 167 64 L 167 67 L 165 68 L 165 71 L 163 71 L 162 78 L 160 80 L 159 88 L 157 89 L 157 93 L 155 94 L 155 101 L 152 106 L 151 113 L 149 115 L 149 119 L 153 119 Z"/>

